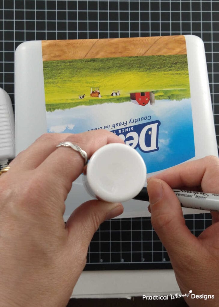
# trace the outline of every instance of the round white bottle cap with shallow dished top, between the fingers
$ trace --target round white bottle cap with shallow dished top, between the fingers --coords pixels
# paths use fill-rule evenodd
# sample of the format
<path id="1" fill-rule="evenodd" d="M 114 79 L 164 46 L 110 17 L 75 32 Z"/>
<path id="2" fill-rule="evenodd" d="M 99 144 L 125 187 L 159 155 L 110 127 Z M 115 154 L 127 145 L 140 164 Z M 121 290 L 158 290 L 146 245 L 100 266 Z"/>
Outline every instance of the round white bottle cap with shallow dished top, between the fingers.
<path id="1" fill-rule="evenodd" d="M 108 202 L 123 202 L 138 195 L 145 185 L 146 174 L 145 162 L 135 149 L 111 143 L 90 158 L 84 184 L 92 196 Z"/>

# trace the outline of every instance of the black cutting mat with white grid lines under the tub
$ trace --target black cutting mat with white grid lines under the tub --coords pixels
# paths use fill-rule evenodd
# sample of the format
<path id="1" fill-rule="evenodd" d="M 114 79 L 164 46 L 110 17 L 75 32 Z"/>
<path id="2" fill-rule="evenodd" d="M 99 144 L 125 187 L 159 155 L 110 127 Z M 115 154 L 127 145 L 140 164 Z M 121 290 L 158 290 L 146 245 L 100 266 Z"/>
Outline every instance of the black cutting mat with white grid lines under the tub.
<path id="1" fill-rule="evenodd" d="M 0 1 L 0 87 L 14 107 L 14 51 L 23 41 L 194 34 L 205 44 L 210 92 L 219 141 L 218 1 Z M 210 214 L 185 216 L 198 236 Z M 85 270 L 170 268 L 150 218 L 113 219 L 90 243 Z"/>

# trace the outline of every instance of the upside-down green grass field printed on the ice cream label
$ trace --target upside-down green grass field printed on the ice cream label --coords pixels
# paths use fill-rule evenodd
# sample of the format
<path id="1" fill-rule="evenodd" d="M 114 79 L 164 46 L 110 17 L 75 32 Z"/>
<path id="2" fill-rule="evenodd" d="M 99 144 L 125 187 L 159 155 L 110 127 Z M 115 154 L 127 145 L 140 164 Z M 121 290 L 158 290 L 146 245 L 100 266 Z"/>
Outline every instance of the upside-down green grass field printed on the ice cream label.
<path id="1" fill-rule="evenodd" d="M 131 92 L 141 91 L 154 91 L 155 99 L 190 97 L 186 55 L 45 61 L 43 73 L 47 111 L 121 103 Z M 102 98 L 90 97 L 91 87 L 99 87 Z M 110 96 L 113 90 L 121 95 Z M 85 98 L 79 99 L 83 94 Z"/>

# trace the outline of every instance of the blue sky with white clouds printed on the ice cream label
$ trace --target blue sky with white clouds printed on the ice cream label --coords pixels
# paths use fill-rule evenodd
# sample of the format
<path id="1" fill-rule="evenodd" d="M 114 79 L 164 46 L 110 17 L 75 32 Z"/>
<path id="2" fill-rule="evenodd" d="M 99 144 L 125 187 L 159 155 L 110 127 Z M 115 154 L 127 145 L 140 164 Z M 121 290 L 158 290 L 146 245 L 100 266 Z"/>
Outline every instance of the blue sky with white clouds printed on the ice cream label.
<path id="1" fill-rule="evenodd" d="M 131 123 L 146 116 L 149 120 Z M 191 99 L 155 100 L 155 105 L 146 106 L 132 102 L 79 106 L 46 112 L 46 117 L 47 132 L 59 133 L 80 133 L 94 128 L 103 129 L 104 126 L 106 130 L 115 130 L 159 120 L 159 150 L 142 153 L 137 149 L 145 161 L 147 173 L 166 169 L 195 156 Z M 112 126 L 119 122 L 121 126 Z"/>

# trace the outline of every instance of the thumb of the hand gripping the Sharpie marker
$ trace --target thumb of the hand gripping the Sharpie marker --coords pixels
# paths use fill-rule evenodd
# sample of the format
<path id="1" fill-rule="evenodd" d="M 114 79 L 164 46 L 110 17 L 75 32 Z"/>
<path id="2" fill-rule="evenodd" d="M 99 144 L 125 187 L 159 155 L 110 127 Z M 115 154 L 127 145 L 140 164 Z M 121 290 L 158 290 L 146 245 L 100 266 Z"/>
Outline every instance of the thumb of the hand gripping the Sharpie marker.
<path id="1" fill-rule="evenodd" d="M 169 256 L 180 256 L 190 243 L 197 242 L 185 224 L 179 200 L 170 186 L 160 180 L 148 180 L 151 223 Z"/>

